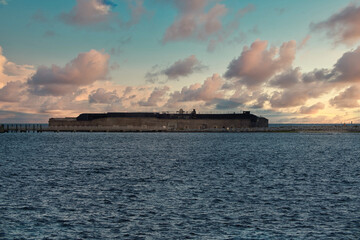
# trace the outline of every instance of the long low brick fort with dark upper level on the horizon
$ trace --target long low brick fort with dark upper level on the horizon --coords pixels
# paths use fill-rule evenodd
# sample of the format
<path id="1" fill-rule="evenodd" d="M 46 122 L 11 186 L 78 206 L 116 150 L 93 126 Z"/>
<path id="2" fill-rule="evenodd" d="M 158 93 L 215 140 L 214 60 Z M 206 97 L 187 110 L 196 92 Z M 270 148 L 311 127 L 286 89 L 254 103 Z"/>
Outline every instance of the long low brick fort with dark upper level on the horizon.
<path id="1" fill-rule="evenodd" d="M 50 118 L 54 131 L 236 131 L 267 128 L 268 119 L 249 111 L 228 114 L 109 112 L 82 113 L 76 118 Z"/>

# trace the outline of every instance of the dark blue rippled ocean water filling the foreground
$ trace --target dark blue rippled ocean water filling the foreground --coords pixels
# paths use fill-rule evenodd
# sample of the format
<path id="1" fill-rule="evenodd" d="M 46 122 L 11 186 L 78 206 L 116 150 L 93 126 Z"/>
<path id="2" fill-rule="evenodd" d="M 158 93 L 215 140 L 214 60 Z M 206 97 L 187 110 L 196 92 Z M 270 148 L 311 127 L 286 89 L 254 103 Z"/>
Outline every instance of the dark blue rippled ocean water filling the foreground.
<path id="1" fill-rule="evenodd" d="M 0 134 L 0 239 L 360 239 L 360 134 Z"/>

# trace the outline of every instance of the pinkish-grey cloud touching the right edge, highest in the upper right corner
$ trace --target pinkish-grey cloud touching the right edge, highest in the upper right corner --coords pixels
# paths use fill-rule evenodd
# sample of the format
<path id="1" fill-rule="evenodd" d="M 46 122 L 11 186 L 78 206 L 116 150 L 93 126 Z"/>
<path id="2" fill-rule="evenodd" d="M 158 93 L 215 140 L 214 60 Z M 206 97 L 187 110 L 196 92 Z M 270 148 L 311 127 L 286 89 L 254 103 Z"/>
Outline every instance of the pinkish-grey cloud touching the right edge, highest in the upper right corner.
<path id="1" fill-rule="evenodd" d="M 313 32 L 325 31 L 335 44 L 353 45 L 360 40 L 360 7 L 351 3 L 325 21 L 312 23 L 310 28 Z"/>

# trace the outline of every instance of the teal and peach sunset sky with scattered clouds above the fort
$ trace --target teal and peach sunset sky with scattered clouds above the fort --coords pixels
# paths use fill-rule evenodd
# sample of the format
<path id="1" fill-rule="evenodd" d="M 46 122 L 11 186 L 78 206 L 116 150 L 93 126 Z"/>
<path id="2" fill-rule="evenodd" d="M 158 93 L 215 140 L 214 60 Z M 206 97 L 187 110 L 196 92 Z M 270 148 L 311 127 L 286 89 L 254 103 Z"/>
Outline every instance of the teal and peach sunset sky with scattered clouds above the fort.
<path id="1" fill-rule="evenodd" d="M 360 123 L 360 1 L 0 0 L 0 123 L 180 108 Z"/>

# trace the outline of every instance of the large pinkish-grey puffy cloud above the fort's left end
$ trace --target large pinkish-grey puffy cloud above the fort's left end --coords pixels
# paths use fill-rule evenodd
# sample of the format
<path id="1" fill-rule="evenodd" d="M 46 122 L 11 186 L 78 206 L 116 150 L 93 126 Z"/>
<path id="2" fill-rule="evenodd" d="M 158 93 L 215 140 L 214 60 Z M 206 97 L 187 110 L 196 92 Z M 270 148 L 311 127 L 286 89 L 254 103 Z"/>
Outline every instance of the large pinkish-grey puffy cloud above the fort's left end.
<path id="1" fill-rule="evenodd" d="M 108 54 L 90 50 L 80 53 L 65 67 L 40 66 L 29 78 L 28 84 L 33 94 L 61 96 L 76 91 L 80 86 L 105 79 L 108 64 Z"/>

